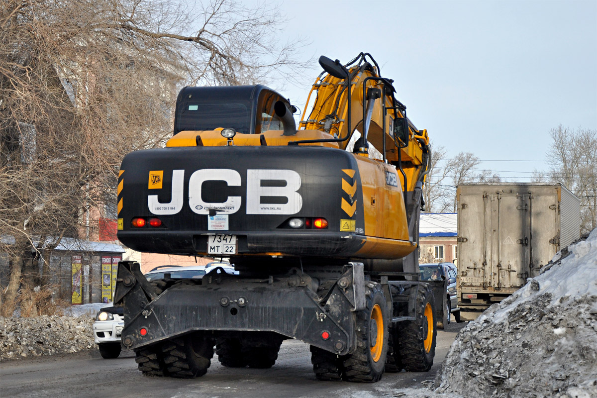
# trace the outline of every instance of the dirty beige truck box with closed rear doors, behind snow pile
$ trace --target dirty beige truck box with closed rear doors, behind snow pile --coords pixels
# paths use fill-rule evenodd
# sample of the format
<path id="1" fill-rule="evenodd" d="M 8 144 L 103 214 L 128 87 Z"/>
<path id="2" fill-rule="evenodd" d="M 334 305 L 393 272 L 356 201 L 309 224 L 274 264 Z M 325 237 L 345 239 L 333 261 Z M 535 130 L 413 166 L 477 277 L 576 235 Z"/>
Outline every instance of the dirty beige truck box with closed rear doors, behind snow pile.
<path id="1" fill-rule="evenodd" d="M 561 184 L 460 184 L 458 306 L 474 320 L 580 237 L 580 200 Z"/>

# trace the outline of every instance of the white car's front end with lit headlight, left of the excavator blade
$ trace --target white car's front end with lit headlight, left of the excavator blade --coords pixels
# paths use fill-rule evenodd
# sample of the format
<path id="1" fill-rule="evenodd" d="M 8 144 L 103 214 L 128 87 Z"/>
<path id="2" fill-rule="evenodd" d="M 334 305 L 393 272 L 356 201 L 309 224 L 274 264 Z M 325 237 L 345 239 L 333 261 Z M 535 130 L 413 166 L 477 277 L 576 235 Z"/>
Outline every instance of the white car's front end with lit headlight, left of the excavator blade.
<path id="1" fill-rule="evenodd" d="M 120 340 L 123 328 L 122 307 L 105 307 L 97 313 L 96 322 L 93 323 L 93 340 L 102 358 L 118 358 L 122 350 Z"/>

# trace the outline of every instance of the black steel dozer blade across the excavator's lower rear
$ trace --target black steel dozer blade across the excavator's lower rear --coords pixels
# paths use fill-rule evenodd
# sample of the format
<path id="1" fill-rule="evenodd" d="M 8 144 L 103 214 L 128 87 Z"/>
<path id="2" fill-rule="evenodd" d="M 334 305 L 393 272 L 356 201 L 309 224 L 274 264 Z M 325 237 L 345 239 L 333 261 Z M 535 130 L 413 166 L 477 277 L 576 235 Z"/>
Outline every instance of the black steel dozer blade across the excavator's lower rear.
<path id="1" fill-rule="evenodd" d="M 116 292 L 118 304 L 124 305 L 125 348 L 137 349 L 203 330 L 214 334 L 270 331 L 338 355 L 354 350 L 353 310 L 365 298 L 364 286 L 362 293 L 353 287 L 355 267 L 344 269 L 325 305 L 321 305 L 321 297 L 309 287 L 309 276 L 300 270 L 270 280 L 210 273 L 203 279 L 179 280 L 155 297 L 152 286 L 140 271 L 137 274 L 138 264 L 124 263 L 119 266 Z M 127 286 L 131 275 L 136 283 Z M 344 289 L 340 286 L 342 277 L 346 277 Z M 356 279 L 364 283 L 358 276 Z"/>

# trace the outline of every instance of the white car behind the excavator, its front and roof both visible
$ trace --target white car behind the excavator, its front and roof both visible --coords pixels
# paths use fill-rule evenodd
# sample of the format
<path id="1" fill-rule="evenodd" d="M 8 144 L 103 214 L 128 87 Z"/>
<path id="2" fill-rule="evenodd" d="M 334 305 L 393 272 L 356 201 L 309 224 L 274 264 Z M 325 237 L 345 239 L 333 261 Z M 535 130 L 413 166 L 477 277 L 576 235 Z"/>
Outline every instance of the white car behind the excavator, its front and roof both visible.
<path id="1" fill-rule="evenodd" d="M 201 279 L 206 273 L 220 267 L 228 274 L 238 274 L 230 263 L 213 261 L 205 266 L 159 266 L 145 274 L 151 282 L 156 279 Z M 167 275 L 168 274 L 168 275 Z M 121 353 L 121 334 L 124 328 L 122 307 L 105 307 L 96 315 L 93 323 L 94 341 L 100 349 L 101 357 L 118 358 Z"/>

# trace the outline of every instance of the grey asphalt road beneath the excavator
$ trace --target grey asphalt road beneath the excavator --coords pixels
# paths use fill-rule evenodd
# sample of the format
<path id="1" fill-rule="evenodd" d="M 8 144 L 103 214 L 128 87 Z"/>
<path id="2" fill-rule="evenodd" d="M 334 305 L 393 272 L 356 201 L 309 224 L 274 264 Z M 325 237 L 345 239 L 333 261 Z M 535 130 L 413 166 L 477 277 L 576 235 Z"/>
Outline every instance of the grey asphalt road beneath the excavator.
<path id="1" fill-rule="evenodd" d="M 102 359 L 90 350 L 64 356 L 0 362 L 1 397 L 392 397 L 400 388 L 433 380 L 456 334 L 466 323 L 438 331 L 430 372 L 386 373 L 380 382 L 322 382 L 313 375 L 309 345 L 286 340 L 271 369 L 224 368 L 214 356 L 203 377 L 184 380 L 145 377 L 132 351 Z M 423 388 L 423 387 L 421 387 Z"/>

